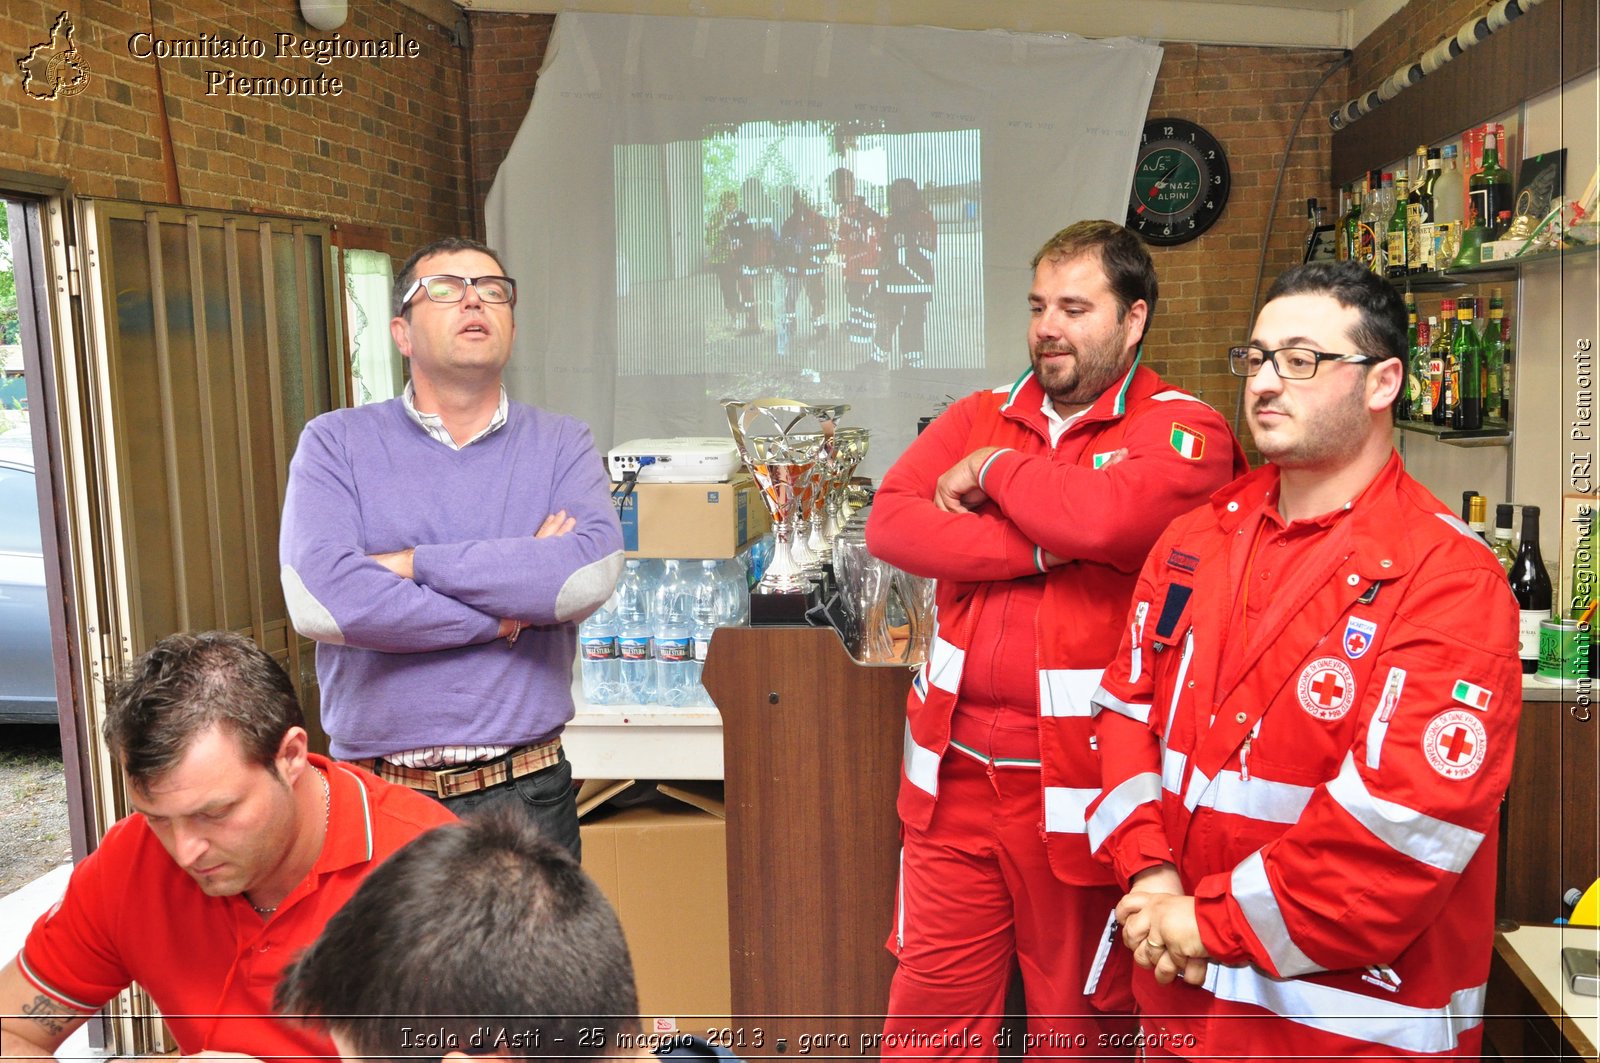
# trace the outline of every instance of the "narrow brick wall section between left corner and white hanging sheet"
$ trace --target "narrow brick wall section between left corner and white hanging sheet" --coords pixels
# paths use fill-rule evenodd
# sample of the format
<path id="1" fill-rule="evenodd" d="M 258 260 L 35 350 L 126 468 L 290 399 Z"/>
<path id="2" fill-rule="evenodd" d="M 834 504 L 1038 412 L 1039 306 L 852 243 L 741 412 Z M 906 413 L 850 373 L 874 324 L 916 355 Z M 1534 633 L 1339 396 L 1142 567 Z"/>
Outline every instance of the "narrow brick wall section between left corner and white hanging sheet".
<path id="1" fill-rule="evenodd" d="M 474 211 L 482 235 L 483 200 L 494 184 L 494 171 L 506 160 L 510 142 L 528 115 L 555 16 L 469 13 L 467 19 L 472 26 L 467 101 L 477 183 Z"/>

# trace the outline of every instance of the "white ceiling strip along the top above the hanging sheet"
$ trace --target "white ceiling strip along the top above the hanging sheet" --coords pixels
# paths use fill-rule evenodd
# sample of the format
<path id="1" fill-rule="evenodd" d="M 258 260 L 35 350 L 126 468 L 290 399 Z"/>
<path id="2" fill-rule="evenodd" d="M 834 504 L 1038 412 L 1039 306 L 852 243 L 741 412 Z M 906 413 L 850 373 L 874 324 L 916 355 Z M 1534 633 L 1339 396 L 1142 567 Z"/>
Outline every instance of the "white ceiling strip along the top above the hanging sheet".
<path id="1" fill-rule="evenodd" d="M 1406 0 L 454 0 L 470 11 L 603 11 L 1070 32 L 1211 45 L 1354 48 Z"/>

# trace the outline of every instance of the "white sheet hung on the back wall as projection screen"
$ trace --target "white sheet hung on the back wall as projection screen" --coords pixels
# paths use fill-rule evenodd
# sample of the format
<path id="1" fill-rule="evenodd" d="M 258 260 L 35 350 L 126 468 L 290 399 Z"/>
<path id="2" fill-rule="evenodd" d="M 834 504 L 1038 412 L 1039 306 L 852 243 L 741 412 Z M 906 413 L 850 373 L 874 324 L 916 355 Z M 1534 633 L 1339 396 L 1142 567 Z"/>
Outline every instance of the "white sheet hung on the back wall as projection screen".
<path id="1" fill-rule="evenodd" d="M 846 402 L 880 474 L 920 416 L 1027 367 L 1029 261 L 1072 221 L 1123 219 L 1160 58 L 1139 40 L 562 14 L 486 203 L 520 285 L 512 395 L 582 418 L 602 450 L 726 435 L 730 395 Z M 923 219 L 883 223 L 901 235 L 869 255 L 910 255 L 896 280 L 914 283 L 862 274 L 838 170 L 859 207 Z"/>

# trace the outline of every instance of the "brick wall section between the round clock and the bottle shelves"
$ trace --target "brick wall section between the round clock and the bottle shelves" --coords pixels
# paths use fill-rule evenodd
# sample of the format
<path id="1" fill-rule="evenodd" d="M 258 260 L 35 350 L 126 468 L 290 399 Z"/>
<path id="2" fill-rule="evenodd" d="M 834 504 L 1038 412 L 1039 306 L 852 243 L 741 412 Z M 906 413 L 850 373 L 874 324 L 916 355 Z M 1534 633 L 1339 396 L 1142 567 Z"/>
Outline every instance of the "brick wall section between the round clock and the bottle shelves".
<path id="1" fill-rule="evenodd" d="M 1150 117 L 1187 118 L 1216 136 L 1227 149 L 1234 191 L 1222 216 L 1200 239 L 1150 250 L 1162 291 L 1146 359 L 1230 423 L 1240 392 L 1224 351 L 1246 339 L 1254 320 L 1253 293 L 1278 165 L 1296 114 L 1338 58 L 1314 50 L 1163 45 Z M 1346 88 L 1346 70 L 1336 70 L 1306 112 L 1288 152 L 1262 293 L 1274 277 L 1301 261 L 1306 200 L 1338 207 L 1336 197 L 1330 199 L 1333 133 L 1326 115 Z M 1245 439 L 1248 443 L 1248 432 Z"/>

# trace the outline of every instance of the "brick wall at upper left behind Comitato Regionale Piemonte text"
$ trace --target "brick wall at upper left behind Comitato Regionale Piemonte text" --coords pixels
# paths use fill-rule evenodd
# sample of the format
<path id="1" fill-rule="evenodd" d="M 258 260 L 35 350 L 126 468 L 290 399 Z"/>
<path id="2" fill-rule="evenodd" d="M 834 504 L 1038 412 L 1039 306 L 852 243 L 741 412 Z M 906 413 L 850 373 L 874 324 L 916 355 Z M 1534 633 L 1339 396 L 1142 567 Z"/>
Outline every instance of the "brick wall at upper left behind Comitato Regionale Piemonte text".
<path id="1" fill-rule="evenodd" d="M 46 40 L 59 3 L 8 0 L 0 10 L 0 168 L 61 176 L 77 194 L 264 210 L 373 226 L 403 256 L 440 235 L 472 231 L 464 53 L 440 27 L 400 3 L 352 3 L 344 38 L 416 42 L 416 58 L 334 58 L 318 66 L 277 54 L 277 34 L 323 37 L 294 0 L 80 0 L 69 13 L 86 88 L 30 99 L 16 58 Z M 171 146 L 160 122 L 157 61 L 130 54 L 134 34 L 195 40 L 202 34 L 264 45 L 254 58 L 160 59 Z M 136 42 L 138 50 L 149 45 Z M 245 96 L 235 78 L 326 78 L 342 94 Z M 208 86 L 211 94 L 208 94 Z M 176 170 L 171 194 L 168 163 Z"/>

